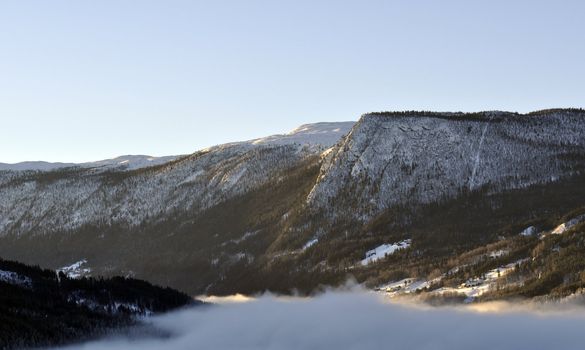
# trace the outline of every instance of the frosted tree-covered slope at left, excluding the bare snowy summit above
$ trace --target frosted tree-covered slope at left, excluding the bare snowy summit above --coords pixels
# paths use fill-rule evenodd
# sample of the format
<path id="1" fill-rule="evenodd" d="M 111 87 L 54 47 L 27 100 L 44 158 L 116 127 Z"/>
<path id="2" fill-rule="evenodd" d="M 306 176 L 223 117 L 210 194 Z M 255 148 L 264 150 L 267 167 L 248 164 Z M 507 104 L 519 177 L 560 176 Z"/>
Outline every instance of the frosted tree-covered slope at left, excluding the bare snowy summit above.
<path id="1" fill-rule="evenodd" d="M 174 210 L 203 210 L 254 188 L 306 155 L 287 146 L 230 147 L 131 175 L 88 169 L 50 181 L 43 174 L 7 177 L 0 189 L 0 232 L 50 232 L 97 222 L 138 225 Z"/>

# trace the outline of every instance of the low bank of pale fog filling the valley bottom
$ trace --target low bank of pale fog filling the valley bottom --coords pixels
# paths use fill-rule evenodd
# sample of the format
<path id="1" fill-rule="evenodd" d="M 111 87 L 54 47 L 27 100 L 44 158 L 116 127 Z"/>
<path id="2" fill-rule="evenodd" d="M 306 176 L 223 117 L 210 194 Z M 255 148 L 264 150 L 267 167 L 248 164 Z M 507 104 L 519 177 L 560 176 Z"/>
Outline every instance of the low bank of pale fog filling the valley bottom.
<path id="1" fill-rule="evenodd" d="M 514 310 L 398 305 L 366 292 L 265 296 L 154 318 L 154 327 L 172 334 L 166 339 L 108 339 L 68 349 L 583 349 L 584 310 Z"/>

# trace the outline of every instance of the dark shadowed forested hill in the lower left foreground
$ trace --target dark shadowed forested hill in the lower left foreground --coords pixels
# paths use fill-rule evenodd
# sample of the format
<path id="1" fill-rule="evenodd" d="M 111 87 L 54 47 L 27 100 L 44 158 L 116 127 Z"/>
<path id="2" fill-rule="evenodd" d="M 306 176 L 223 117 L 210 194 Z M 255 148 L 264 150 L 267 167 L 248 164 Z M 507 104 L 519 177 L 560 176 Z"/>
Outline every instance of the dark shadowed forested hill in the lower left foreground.
<path id="1" fill-rule="evenodd" d="M 0 348 L 54 346 L 139 324 L 144 315 L 199 304 L 130 278 L 70 278 L 0 260 Z"/>

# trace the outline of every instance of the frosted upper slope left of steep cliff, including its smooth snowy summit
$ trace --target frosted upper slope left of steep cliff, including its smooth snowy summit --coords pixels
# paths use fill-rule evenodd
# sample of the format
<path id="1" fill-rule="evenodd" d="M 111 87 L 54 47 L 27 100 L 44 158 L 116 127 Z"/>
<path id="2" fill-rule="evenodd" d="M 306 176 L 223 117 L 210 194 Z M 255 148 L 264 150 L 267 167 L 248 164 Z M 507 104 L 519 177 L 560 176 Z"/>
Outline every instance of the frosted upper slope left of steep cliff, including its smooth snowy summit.
<path id="1" fill-rule="evenodd" d="M 264 141 L 220 145 L 177 159 L 123 156 L 63 174 L 0 174 L 0 235 L 92 223 L 139 225 L 176 211 L 196 213 L 282 176 L 341 139 L 352 124 L 305 125 Z M 162 165 L 147 168 L 155 164 Z"/>

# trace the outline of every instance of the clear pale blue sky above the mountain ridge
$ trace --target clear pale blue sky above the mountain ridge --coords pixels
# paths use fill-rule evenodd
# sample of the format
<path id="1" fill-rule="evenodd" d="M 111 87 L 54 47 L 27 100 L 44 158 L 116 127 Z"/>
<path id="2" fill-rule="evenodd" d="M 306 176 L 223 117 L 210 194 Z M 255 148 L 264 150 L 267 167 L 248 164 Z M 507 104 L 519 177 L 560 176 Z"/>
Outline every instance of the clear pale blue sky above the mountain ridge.
<path id="1" fill-rule="evenodd" d="M 174 155 L 382 110 L 583 107 L 581 0 L 0 0 L 0 162 Z"/>

